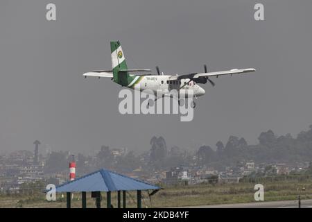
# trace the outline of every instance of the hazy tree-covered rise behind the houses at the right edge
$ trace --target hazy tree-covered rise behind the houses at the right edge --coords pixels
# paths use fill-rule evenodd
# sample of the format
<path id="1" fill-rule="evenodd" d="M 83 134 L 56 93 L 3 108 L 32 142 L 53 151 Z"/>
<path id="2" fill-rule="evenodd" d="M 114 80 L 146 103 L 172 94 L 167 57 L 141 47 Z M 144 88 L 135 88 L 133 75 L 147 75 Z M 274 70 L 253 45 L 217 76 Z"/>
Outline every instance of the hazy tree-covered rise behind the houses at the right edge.
<path id="1" fill-rule="evenodd" d="M 210 146 L 198 149 L 198 164 L 223 169 L 235 166 L 239 161 L 263 162 L 310 162 L 312 159 L 312 125 L 300 132 L 296 138 L 290 134 L 277 136 L 272 130 L 259 135 L 259 144 L 248 145 L 244 138 L 230 136 L 225 146 L 216 144 L 216 151 Z"/>

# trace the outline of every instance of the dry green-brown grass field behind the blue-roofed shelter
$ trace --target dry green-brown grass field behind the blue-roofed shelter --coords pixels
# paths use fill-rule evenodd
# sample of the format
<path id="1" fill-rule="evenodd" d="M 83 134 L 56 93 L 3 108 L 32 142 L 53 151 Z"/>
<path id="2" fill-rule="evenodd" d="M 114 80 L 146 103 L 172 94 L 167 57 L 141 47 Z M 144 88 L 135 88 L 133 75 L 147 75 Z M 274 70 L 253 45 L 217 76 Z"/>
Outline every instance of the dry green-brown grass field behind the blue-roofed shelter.
<path id="1" fill-rule="evenodd" d="M 312 198 L 312 180 L 283 180 L 262 182 L 265 201 L 296 200 Z M 243 182 L 239 184 L 190 185 L 179 187 L 164 187 L 150 199 L 146 191 L 142 191 L 142 207 L 182 207 L 195 205 L 214 205 L 223 203 L 254 202 L 255 183 Z M 303 189 L 303 187 L 305 189 Z M 102 193 L 102 207 L 106 207 L 106 194 Z M 127 207 L 136 207 L 137 194 L 135 191 L 127 193 Z M 112 192 L 112 205 L 116 207 L 116 192 Z M 0 195 L 0 207 L 66 207 L 64 198 L 57 195 L 57 201 L 47 201 L 45 194 Z M 71 207 L 81 207 L 80 194 L 73 194 Z M 95 200 L 87 193 L 87 207 L 95 207 Z"/>

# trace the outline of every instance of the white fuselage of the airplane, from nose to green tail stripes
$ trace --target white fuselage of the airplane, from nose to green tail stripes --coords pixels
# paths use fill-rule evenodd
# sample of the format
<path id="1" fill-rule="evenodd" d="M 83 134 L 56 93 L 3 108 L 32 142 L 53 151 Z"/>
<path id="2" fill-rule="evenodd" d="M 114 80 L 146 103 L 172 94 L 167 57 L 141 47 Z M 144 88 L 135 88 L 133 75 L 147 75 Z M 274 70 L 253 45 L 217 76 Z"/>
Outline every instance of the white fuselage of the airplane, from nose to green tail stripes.
<path id="1" fill-rule="evenodd" d="M 202 89 L 196 82 L 189 81 L 189 78 L 181 80 L 170 80 L 168 75 L 150 75 L 141 76 L 141 80 L 136 85 L 129 85 L 132 89 L 140 91 L 149 89 L 148 93 L 155 94 L 155 96 L 171 96 L 170 92 L 172 89 L 176 89 L 180 96 L 184 94 L 187 97 L 187 89 L 193 89 L 193 96 L 202 96 L 205 94 L 205 89 Z M 184 89 L 184 90 L 183 90 Z"/>

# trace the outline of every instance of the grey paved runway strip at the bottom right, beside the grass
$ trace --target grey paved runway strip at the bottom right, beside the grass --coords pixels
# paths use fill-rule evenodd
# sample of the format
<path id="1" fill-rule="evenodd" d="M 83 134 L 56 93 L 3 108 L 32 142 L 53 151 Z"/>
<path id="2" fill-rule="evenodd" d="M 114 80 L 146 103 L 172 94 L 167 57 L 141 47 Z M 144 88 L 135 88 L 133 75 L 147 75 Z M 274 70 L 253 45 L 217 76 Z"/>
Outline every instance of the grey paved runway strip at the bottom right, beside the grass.
<path id="1" fill-rule="evenodd" d="M 301 200 L 301 207 L 312 208 L 312 199 Z M 298 200 L 201 205 L 201 206 L 189 206 L 187 208 L 298 208 Z"/>

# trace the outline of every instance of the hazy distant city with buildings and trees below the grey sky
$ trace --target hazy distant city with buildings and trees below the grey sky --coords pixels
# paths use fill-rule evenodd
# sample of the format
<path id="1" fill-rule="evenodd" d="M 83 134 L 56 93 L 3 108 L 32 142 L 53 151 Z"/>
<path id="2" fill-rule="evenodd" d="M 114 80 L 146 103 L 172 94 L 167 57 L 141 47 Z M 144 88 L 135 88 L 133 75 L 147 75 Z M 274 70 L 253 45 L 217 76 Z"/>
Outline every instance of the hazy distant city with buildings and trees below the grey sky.
<path id="1" fill-rule="evenodd" d="M 173 146 L 164 137 L 150 139 L 150 149 L 136 155 L 128 148 L 99 147 L 92 155 L 51 151 L 36 140 L 32 151 L 0 155 L 0 191 L 19 193 L 36 182 L 60 185 L 69 180 L 69 162 L 76 162 L 76 177 L 101 168 L 157 185 L 196 185 L 240 182 L 245 178 L 291 176 L 312 173 L 312 125 L 297 137 L 277 137 L 272 130 L 259 135 L 259 144 L 229 137 L 214 148 L 196 152 Z M 27 188 L 28 187 L 28 188 Z M 43 189 L 44 187 L 33 187 Z"/>

